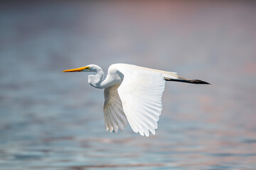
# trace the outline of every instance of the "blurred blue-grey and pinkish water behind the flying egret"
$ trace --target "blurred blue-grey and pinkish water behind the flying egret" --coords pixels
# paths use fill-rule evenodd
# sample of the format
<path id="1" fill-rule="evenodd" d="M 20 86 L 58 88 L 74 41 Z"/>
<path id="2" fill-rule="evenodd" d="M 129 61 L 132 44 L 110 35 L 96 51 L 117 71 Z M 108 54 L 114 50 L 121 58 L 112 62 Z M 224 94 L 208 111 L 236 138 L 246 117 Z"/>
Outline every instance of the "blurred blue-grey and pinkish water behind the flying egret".
<path id="1" fill-rule="evenodd" d="M 256 169 L 255 1 L 0 3 L 0 169 Z M 156 135 L 105 130 L 103 91 L 64 69 L 167 82 Z"/>

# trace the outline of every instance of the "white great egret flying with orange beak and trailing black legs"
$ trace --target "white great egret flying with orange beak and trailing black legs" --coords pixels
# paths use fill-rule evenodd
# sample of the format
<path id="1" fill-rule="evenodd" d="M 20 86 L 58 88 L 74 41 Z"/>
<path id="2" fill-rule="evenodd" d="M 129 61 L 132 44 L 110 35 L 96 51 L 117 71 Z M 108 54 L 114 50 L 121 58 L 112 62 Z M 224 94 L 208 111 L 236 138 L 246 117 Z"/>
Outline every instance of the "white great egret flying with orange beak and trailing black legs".
<path id="1" fill-rule="evenodd" d="M 155 135 L 162 110 L 161 96 L 165 81 L 209 84 L 198 79 L 183 79 L 176 72 L 132 64 L 112 64 L 105 80 L 102 68 L 95 64 L 63 72 L 95 72 L 88 76 L 88 83 L 98 89 L 105 89 L 103 110 L 106 130 L 123 131 L 128 120 L 134 132 L 146 137 L 149 131 Z"/>

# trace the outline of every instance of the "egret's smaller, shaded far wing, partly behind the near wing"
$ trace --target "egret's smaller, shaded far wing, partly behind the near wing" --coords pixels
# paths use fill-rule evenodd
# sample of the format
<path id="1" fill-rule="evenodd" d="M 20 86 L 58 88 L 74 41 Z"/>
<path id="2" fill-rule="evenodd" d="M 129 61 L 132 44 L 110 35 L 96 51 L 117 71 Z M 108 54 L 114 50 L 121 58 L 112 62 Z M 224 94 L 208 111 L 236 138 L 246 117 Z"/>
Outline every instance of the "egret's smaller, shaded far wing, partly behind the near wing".
<path id="1" fill-rule="evenodd" d="M 104 91 L 104 118 L 105 118 L 105 128 L 112 132 L 118 131 L 118 128 L 123 131 L 124 126 L 127 125 L 127 118 L 124 115 L 122 108 L 122 101 L 117 93 L 118 85 L 110 86 Z"/>

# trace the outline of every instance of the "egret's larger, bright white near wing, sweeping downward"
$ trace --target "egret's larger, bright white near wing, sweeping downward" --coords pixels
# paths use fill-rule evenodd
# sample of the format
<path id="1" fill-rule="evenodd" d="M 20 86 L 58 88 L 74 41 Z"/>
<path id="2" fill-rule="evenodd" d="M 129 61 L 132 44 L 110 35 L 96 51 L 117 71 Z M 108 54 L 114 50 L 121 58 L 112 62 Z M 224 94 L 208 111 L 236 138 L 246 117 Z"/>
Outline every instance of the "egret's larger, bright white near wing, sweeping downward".
<path id="1" fill-rule="evenodd" d="M 149 131 L 155 134 L 165 86 L 162 73 L 134 65 L 125 65 L 119 72 L 124 79 L 118 94 L 132 130 L 140 135 L 149 136 Z"/>

